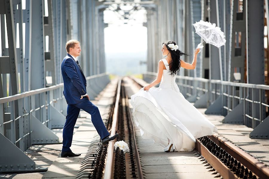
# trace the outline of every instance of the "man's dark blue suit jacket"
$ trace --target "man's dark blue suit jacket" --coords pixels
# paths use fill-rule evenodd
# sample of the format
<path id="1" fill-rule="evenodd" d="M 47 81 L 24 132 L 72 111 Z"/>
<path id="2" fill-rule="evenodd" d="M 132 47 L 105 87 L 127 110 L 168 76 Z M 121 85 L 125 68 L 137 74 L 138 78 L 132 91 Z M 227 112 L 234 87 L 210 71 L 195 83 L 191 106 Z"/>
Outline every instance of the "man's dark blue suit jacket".
<path id="1" fill-rule="evenodd" d="M 81 96 L 87 93 L 87 82 L 82 70 L 70 54 L 67 54 L 63 59 L 61 70 L 64 82 L 63 95 L 67 104 L 81 102 Z"/>

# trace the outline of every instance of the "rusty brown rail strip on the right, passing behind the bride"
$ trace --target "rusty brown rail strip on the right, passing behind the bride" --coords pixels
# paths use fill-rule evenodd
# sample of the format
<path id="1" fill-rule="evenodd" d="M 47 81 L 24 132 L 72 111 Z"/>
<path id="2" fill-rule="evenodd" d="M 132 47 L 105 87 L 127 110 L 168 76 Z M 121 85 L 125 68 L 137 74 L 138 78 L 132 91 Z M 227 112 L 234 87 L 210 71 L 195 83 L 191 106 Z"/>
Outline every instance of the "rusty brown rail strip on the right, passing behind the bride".
<path id="1" fill-rule="evenodd" d="M 146 85 L 131 79 L 139 87 Z M 218 133 L 196 139 L 195 149 L 223 178 L 269 178 L 268 165 Z"/>

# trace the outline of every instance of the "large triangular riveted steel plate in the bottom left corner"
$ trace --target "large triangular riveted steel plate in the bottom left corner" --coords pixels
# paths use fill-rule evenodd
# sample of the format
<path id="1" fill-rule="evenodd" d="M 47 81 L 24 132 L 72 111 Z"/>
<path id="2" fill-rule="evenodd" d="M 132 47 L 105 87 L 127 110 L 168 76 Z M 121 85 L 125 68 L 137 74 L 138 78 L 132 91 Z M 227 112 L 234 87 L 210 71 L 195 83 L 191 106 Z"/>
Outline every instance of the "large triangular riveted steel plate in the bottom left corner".
<path id="1" fill-rule="evenodd" d="M 0 133 L 0 172 L 32 171 L 36 163 Z"/>

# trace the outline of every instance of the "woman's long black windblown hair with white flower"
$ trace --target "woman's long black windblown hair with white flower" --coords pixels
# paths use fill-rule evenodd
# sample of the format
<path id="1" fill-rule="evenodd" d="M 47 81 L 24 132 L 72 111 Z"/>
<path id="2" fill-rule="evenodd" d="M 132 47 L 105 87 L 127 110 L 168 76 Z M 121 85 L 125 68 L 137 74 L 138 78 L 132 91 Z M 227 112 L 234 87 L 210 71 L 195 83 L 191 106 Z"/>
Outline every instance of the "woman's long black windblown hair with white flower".
<path id="1" fill-rule="evenodd" d="M 177 74 L 177 72 L 180 70 L 180 67 L 181 67 L 180 56 L 183 56 L 183 55 L 184 56 L 189 56 L 190 54 L 183 53 L 180 50 L 176 50 L 176 51 L 171 50 L 170 47 L 168 47 L 168 45 L 169 44 L 176 45 L 176 43 L 174 41 L 166 41 L 166 42 L 163 42 L 163 44 L 165 44 L 165 46 L 167 47 L 167 49 L 169 50 L 169 52 L 171 54 L 172 60 L 171 60 L 170 64 L 172 64 L 172 67 L 170 68 L 170 72 L 171 72 L 171 75 L 175 76 Z"/>

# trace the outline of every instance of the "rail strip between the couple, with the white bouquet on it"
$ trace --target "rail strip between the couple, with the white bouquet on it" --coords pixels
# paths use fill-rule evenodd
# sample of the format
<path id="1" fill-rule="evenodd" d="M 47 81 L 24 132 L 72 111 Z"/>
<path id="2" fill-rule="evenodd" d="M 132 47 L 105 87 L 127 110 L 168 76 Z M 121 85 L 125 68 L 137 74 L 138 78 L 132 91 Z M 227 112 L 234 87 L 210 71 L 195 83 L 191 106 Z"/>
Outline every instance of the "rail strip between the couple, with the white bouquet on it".
<path id="1" fill-rule="evenodd" d="M 119 148 L 115 151 L 115 141 L 103 146 L 99 135 L 96 135 L 76 178 L 143 178 L 128 104 L 123 81 L 119 79 L 106 128 L 111 136 L 118 133 L 117 141 L 125 141 L 130 152 L 123 154 Z"/>

